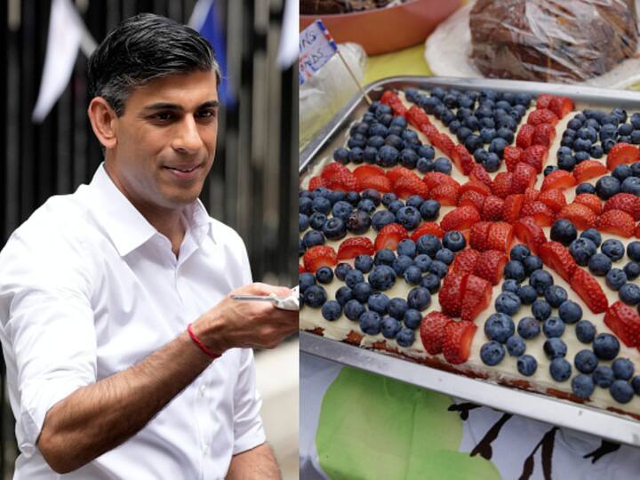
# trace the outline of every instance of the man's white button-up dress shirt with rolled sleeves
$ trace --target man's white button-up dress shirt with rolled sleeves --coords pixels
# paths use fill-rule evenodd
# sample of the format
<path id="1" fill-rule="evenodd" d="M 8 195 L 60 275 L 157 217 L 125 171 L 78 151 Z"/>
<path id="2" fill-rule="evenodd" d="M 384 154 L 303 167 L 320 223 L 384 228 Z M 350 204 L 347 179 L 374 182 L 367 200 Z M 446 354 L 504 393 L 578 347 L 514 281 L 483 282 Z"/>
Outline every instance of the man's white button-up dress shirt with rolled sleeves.
<path id="1" fill-rule="evenodd" d="M 140 362 L 251 283 L 233 229 L 199 201 L 183 221 L 176 259 L 100 165 L 90 185 L 53 196 L 13 232 L 0 252 L 0 340 L 15 479 L 222 478 L 232 454 L 265 441 L 252 350 L 233 348 L 138 434 L 75 472 L 56 474 L 36 446 L 53 404 Z"/>

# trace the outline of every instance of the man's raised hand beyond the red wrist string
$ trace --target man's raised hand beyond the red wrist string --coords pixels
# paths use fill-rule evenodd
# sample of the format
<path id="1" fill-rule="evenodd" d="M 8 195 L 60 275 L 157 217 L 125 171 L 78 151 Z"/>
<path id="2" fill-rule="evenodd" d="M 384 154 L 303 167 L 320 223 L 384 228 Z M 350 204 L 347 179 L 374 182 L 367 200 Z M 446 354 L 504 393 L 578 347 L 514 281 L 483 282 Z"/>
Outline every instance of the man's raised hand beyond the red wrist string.
<path id="1" fill-rule="evenodd" d="M 229 295 L 288 297 L 291 290 L 268 284 L 249 284 Z M 298 312 L 276 308 L 267 301 L 226 298 L 192 325 L 196 336 L 214 352 L 229 348 L 274 348 L 298 330 Z"/>

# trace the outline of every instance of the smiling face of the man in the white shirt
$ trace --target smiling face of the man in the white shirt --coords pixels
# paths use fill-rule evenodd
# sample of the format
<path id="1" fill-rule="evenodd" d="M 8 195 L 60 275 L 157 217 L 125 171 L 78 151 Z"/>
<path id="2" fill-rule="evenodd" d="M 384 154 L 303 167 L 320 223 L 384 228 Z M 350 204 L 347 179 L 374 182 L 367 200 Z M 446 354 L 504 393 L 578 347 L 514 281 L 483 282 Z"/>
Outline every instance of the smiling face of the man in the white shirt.
<path id="1" fill-rule="evenodd" d="M 216 84 L 213 72 L 167 76 L 126 100 L 107 169 L 139 209 L 179 209 L 200 195 L 215 155 Z"/>

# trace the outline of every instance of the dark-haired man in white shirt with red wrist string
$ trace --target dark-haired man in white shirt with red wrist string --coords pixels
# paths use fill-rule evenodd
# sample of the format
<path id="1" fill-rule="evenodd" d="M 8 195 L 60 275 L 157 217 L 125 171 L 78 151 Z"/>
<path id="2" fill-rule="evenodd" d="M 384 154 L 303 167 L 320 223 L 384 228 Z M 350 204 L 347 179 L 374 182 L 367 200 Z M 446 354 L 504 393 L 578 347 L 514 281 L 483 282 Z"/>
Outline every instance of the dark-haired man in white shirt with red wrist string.
<path id="1" fill-rule="evenodd" d="M 0 252 L 14 478 L 277 478 L 251 348 L 298 315 L 228 297 L 290 291 L 252 284 L 242 239 L 197 199 L 216 147 L 211 45 L 138 15 L 92 54 L 89 84 L 104 164 Z"/>

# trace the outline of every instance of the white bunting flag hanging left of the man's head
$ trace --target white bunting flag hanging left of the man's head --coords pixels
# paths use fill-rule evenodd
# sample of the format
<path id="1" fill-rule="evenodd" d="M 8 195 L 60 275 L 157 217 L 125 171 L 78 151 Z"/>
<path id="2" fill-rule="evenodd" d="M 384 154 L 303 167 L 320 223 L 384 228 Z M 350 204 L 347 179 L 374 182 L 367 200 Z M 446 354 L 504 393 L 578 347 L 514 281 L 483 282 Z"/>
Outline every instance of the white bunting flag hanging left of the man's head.
<path id="1" fill-rule="evenodd" d="M 52 0 L 43 75 L 31 116 L 34 123 L 41 123 L 49 115 L 67 88 L 78 50 L 89 57 L 95 48 L 96 42 L 74 4 L 70 0 Z"/>

